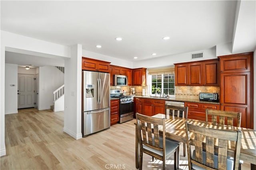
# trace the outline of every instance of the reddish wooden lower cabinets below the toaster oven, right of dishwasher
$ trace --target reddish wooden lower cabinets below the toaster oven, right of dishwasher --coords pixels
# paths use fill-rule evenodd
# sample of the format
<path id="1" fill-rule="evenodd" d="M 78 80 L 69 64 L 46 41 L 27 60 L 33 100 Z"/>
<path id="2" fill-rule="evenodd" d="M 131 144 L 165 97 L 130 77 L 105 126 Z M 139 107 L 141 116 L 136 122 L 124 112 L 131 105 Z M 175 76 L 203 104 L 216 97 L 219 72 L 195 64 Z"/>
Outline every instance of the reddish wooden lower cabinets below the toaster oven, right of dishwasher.
<path id="1" fill-rule="evenodd" d="M 188 106 L 188 119 L 197 119 L 202 121 L 206 121 L 206 109 L 220 110 L 220 104 L 185 102 L 185 106 Z M 208 116 L 208 121 L 212 121 L 211 116 Z"/>

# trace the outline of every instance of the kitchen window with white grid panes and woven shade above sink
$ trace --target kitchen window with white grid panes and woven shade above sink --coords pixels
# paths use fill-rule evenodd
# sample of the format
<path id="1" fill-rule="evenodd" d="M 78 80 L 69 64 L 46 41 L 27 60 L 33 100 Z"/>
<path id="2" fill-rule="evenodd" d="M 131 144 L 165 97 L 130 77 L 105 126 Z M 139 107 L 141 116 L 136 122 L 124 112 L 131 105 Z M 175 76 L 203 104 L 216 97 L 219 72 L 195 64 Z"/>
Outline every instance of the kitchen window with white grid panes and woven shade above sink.
<path id="1" fill-rule="evenodd" d="M 174 66 L 148 69 L 148 92 L 150 95 L 175 95 Z"/>

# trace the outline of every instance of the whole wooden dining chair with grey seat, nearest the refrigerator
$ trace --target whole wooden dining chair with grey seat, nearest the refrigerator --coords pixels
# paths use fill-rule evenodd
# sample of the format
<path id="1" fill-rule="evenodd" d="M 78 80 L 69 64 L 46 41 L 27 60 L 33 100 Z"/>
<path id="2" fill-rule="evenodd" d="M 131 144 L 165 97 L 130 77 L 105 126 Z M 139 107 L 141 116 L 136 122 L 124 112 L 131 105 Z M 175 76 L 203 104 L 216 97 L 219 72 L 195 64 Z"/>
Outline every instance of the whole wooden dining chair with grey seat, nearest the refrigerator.
<path id="1" fill-rule="evenodd" d="M 165 161 L 174 153 L 174 169 L 178 169 L 178 149 L 179 145 L 166 141 L 165 138 L 165 119 L 150 117 L 136 113 L 138 139 L 140 144 L 140 170 L 142 170 L 143 153 L 154 156 L 163 161 L 163 170 L 165 170 Z M 159 128 L 162 127 L 163 138 L 159 137 Z"/>

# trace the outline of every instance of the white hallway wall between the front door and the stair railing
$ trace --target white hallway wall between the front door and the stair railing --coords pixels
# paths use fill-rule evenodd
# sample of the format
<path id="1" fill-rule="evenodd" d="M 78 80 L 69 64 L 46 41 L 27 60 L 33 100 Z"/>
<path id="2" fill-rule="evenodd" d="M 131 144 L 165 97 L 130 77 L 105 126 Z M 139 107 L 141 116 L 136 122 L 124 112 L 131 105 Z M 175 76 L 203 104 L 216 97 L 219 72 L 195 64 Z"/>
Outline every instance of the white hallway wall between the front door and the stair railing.
<path id="1" fill-rule="evenodd" d="M 64 73 L 55 66 L 39 68 L 38 110 L 50 109 L 53 105 L 53 92 L 64 84 Z"/>

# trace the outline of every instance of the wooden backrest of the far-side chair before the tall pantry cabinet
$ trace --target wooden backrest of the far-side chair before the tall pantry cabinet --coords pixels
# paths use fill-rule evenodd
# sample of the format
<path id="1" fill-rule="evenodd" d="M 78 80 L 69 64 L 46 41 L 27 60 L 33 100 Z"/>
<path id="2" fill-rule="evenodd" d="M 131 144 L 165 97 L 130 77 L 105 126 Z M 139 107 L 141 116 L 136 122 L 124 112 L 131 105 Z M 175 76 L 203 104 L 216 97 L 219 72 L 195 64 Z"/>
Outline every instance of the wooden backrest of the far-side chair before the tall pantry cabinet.
<path id="1" fill-rule="evenodd" d="M 241 125 L 241 112 L 206 109 L 206 121 L 208 121 L 208 115 L 212 115 L 212 123 L 219 123 L 225 125 L 225 119 L 227 119 L 226 125 L 236 127 L 240 127 Z M 233 125 L 234 118 L 237 119 L 236 125 Z"/>

